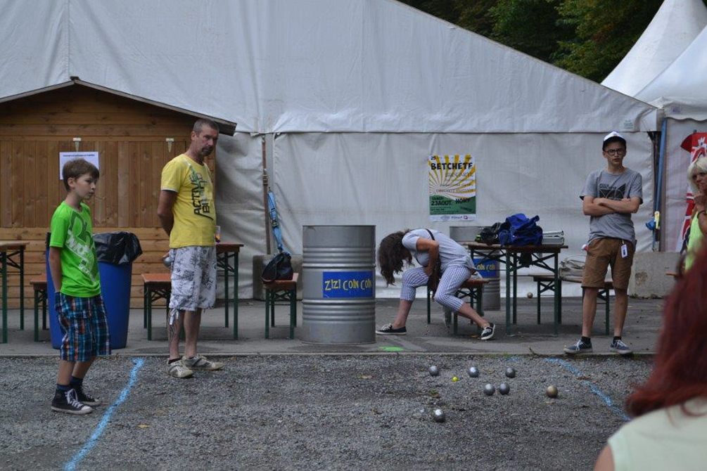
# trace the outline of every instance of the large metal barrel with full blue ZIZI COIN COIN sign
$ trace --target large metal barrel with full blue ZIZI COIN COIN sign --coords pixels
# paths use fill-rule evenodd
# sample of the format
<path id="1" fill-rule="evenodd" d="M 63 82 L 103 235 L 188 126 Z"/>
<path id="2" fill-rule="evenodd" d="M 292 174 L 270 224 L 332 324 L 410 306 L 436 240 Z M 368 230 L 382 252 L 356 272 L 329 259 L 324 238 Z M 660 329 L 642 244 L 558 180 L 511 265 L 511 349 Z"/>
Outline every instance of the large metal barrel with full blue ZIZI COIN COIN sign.
<path id="1" fill-rule="evenodd" d="M 304 226 L 302 246 L 302 340 L 375 342 L 375 226 Z"/>

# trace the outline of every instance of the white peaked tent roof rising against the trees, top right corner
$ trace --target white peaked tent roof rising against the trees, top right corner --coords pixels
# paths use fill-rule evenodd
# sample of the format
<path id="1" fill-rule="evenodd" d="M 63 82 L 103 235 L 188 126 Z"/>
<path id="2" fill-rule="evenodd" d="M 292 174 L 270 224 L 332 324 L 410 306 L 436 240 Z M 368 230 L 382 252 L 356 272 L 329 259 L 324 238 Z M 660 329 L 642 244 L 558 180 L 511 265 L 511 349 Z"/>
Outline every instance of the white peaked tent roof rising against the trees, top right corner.
<path id="1" fill-rule="evenodd" d="M 643 90 L 707 25 L 702 0 L 665 0 L 643 35 L 602 85 L 631 97 Z"/>

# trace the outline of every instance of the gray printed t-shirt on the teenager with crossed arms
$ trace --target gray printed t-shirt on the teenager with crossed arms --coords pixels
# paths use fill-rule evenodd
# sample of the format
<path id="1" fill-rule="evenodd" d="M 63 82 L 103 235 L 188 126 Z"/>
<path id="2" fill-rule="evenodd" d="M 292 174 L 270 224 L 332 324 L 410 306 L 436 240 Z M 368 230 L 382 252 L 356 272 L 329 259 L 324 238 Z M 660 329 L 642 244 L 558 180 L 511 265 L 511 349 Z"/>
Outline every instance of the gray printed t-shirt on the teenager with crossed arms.
<path id="1" fill-rule="evenodd" d="M 643 203 L 643 179 L 641 174 L 625 169 L 621 174 L 610 174 L 606 169 L 589 174 L 580 198 L 609 198 L 621 201 L 624 198 L 641 198 Z M 612 213 L 592 216 L 589 220 L 589 242 L 603 237 L 624 239 L 636 243 L 636 231 L 633 229 L 631 214 Z"/>

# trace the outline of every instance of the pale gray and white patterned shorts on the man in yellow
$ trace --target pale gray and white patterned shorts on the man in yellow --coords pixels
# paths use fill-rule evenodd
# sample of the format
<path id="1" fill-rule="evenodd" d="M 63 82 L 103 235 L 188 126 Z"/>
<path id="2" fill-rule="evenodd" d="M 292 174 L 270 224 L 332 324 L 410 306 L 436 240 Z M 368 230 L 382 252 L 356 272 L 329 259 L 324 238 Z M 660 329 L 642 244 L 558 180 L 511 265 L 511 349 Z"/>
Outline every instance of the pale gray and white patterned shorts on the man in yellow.
<path id="1" fill-rule="evenodd" d="M 170 249 L 172 296 L 170 309 L 196 311 L 216 303 L 216 247 Z"/>

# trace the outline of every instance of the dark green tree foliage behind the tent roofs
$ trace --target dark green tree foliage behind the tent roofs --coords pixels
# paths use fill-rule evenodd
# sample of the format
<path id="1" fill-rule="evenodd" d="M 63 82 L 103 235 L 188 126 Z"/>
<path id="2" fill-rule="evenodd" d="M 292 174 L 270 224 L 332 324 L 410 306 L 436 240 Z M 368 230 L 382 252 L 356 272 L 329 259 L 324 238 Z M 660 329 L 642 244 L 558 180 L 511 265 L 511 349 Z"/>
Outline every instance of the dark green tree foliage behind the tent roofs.
<path id="1" fill-rule="evenodd" d="M 404 1 L 594 81 L 602 81 L 619 64 L 662 4 L 662 0 Z"/>

